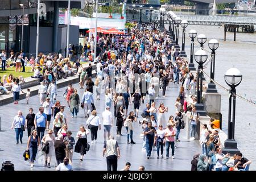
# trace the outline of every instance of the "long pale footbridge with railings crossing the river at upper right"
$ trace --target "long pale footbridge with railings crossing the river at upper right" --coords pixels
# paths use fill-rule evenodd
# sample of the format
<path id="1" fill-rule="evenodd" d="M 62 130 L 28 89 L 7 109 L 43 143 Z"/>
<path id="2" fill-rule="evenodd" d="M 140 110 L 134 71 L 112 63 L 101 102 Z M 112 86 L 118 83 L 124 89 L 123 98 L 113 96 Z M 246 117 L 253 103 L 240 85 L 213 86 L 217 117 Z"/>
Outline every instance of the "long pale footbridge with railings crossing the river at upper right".
<path id="1" fill-rule="evenodd" d="M 250 24 L 256 25 L 256 17 L 241 16 L 200 16 L 200 15 L 179 15 L 181 19 L 186 19 L 189 24 L 217 25 L 221 24 Z"/>

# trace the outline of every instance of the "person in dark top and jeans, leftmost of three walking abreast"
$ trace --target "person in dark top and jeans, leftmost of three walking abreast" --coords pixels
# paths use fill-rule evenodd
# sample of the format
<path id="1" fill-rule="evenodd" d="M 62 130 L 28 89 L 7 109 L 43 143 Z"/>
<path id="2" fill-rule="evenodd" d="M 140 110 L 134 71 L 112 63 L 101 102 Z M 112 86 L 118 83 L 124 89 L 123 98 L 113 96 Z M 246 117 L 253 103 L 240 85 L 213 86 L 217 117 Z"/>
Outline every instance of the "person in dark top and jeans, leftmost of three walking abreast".
<path id="1" fill-rule="evenodd" d="M 154 144 L 154 138 L 156 134 L 155 127 L 152 127 L 152 122 L 147 123 L 146 129 L 143 132 L 146 135 L 146 150 L 147 150 L 147 159 L 151 159 L 151 151 Z"/>

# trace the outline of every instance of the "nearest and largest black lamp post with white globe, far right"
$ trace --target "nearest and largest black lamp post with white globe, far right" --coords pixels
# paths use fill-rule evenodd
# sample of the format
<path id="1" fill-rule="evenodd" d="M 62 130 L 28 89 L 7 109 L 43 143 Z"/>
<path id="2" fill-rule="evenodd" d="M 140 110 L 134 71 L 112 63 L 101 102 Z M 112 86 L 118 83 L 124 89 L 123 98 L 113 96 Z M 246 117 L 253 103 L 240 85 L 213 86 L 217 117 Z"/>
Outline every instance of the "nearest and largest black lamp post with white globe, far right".
<path id="1" fill-rule="evenodd" d="M 230 153 L 230 155 L 240 152 L 237 148 L 237 142 L 234 139 L 235 131 L 235 117 L 236 117 L 236 86 L 242 81 L 242 73 L 237 68 L 230 68 L 225 73 L 226 84 L 230 86 L 229 90 L 229 116 L 228 116 L 228 139 L 225 140 L 223 153 Z M 231 121 L 231 110 L 232 110 L 232 98 L 233 98 L 233 114 Z"/>

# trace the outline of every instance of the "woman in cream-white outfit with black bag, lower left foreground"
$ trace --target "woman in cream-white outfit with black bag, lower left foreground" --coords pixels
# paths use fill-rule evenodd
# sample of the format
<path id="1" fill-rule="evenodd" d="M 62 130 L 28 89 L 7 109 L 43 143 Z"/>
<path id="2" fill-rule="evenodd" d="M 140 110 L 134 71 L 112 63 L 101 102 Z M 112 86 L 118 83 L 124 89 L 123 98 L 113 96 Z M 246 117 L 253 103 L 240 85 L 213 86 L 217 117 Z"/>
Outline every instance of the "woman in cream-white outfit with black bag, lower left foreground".
<path id="1" fill-rule="evenodd" d="M 51 168 L 50 163 L 51 163 L 51 159 L 54 152 L 54 142 L 55 142 L 55 137 L 53 137 L 52 135 L 53 131 L 52 130 L 48 130 L 48 134 L 44 135 L 43 139 L 42 139 L 42 143 L 44 145 L 47 145 L 49 147 L 49 151 L 44 152 L 44 159 L 46 161 L 46 163 L 44 164 L 44 167 L 48 167 Z"/>

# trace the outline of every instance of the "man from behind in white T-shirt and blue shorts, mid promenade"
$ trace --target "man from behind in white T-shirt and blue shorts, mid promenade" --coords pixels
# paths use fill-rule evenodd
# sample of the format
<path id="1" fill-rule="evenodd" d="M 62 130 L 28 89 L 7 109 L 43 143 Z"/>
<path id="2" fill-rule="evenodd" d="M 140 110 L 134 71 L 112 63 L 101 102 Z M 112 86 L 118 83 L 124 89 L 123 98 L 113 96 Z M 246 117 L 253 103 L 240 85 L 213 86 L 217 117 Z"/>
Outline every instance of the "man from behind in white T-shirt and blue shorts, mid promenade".
<path id="1" fill-rule="evenodd" d="M 108 138 L 110 137 L 110 129 L 113 126 L 112 113 L 110 112 L 110 107 L 106 106 L 106 110 L 102 113 L 102 121 L 104 126 L 104 142 L 106 141 L 106 134 L 108 133 Z"/>

